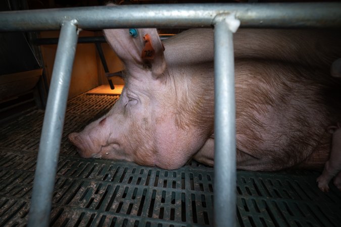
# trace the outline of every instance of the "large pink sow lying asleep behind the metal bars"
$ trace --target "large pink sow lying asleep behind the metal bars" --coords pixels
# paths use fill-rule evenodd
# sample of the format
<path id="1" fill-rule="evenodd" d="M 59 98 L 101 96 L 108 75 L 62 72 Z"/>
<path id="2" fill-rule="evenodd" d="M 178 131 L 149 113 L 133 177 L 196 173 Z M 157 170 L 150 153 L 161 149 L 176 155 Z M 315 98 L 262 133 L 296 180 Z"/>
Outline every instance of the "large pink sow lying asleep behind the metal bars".
<path id="1" fill-rule="evenodd" d="M 106 115 L 69 135 L 80 156 L 164 169 L 191 158 L 214 165 L 213 29 L 189 29 L 163 43 L 156 29 L 104 34 L 125 65 L 125 86 Z M 340 38 L 327 30 L 234 34 L 238 169 L 323 167 L 326 128 L 341 118 L 341 82 L 330 75 Z"/>

